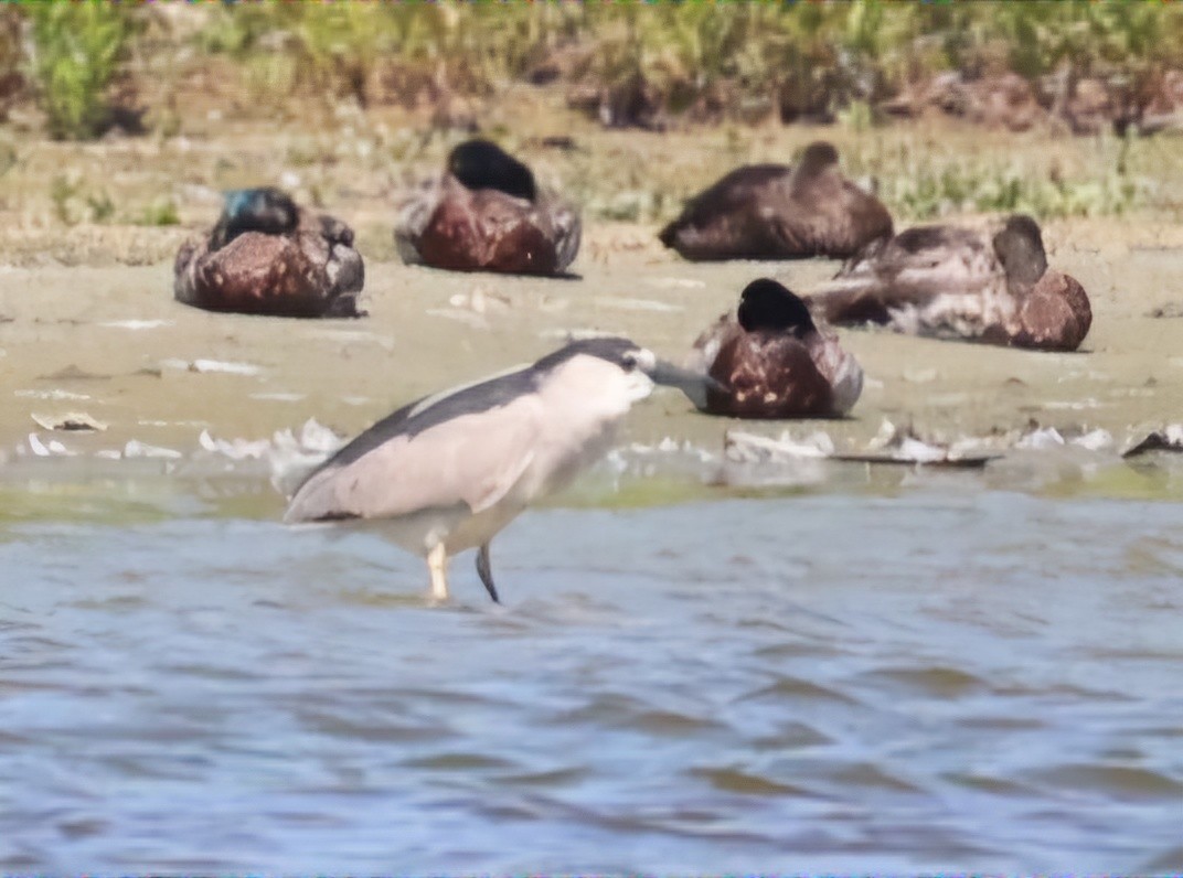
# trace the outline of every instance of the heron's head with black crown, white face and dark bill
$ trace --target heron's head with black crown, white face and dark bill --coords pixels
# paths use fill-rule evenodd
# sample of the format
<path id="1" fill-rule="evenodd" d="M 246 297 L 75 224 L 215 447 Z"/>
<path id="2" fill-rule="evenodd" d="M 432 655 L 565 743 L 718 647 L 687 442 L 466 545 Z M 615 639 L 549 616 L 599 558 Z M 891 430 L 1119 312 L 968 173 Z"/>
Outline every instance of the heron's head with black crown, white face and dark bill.
<path id="1" fill-rule="evenodd" d="M 539 359 L 535 369 L 554 375 L 558 381 L 570 381 L 573 391 L 581 394 L 587 391 L 576 388 L 574 377 L 569 376 L 586 371 L 589 384 L 595 385 L 590 392 L 610 397 L 609 402 L 623 409 L 647 397 L 657 384 L 678 388 L 696 404 L 699 399 L 705 401 L 709 386 L 719 386 L 710 376 L 658 359 L 647 347 L 615 337 L 573 342 Z"/>

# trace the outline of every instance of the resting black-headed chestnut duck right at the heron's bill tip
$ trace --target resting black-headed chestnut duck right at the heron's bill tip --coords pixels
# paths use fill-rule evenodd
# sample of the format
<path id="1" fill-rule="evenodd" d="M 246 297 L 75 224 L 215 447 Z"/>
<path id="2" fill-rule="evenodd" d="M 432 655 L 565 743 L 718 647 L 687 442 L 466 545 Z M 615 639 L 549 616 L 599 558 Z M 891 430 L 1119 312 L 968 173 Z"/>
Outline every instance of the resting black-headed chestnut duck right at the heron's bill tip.
<path id="1" fill-rule="evenodd" d="M 862 392 L 862 369 L 809 308 L 781 284 L 761 278 L 694 342 L 690 365 L 722 386 L 704 411 L 750 418 L 839 417 Z"/>

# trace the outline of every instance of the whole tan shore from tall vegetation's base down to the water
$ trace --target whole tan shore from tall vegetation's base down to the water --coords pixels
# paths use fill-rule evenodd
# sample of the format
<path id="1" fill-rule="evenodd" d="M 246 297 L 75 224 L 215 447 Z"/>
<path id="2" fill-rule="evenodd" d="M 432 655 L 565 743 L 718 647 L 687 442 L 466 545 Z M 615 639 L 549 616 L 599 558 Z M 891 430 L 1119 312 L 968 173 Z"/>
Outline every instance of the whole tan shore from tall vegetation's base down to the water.
<path id="1" fill-rule="evenodd" d="M 259 438 L 310 417 L 351 434 L 408 399 L 532 360 L 569 334 L 588 331 L 625 334 L 681 359 L 754 278 L 775 277 L 807 294 L 839 266 L 825 260 L 690 264 L 657 241 L 661 220 L 728 168 L 789 161 L 819 136 L 838 143 L 843 164 L 855 165 L 852 173 L 883 175 L 888 186 L 910 173 L 916 154 L 956 168 L 962 150 L 975 167 L 1013 162 L 1030 175 L 1052 168 L 1081 176 L 1094 168 L 1101 173 L 1113 151 L 1104 142 L 1048 134 L 935 134 L 916 126 L 861 134 L 840 126 L 601 131 L 587 123 L 564 128 L 560 112 L 542 110 L 554 108 L 534 108 L 534 118 L 545 119 L 534 128 L 522 124 L 532 112 L 525 104 L 502 111 L 505 118 L 493 123 L 512 131 L 508 145 L 523 151 L 544 183 L 563 186 L 584 206 L 583 246 L 570 279 L 402 265 L 390 239 L 399 193 L 438 168 L 448 137 L 455 139 L 420 139 L 406 121 L 347 115 L 323 125 L 289 123 L 269 131 L 260 123 L 198 118 L 173 139 L 84 147 L 15 135 L 15 158 L 6 174 L 11 186 L 0 197 L 0 448 L 9 453 L 37 434 L 82 454 L 121 449 L 130 440 L 183 453 L 196 447 L 203 429 Z M 542 145 L 560 129 L 573 135 L 574 147 Z M 1139 184 L 1169 147 L 1151 139 L 1130 148 Z M 402 152 L 409 157 L 399 158 Z M 54 202 L 51 180 L 63 169 L 75 195 L 63 199 L 59 187 Z M 1162 169 L 1162 178 L 1151 183 L 1169 195 L 1178 168 L 1166 162 Z M 218 188 L 258 183 L 285 186 L 357 229 L 367 317 L 215 314 L 173 300 L 173 254 L 216 216 Z M 110 222 L 86 219 L 84 196 L 91 191 L 119 206 Z M 179 226 L 119 221 L 161 194 L 175 206 Z M 647 207 L 627 221 L 610 219 L 631 199 Z M 618 213 L 628 215 L 625 207 Z M 962 214 L 942 221 L 985 219 Z M 823 429 L 840 449 L 856 450 L 885 418 L 945 441 L 1037 424 L 1061 431 L 1104 428 L 1118 443 L 1178 421 L 1183 226 L 1176 220 L 1158 207 L 1043 221 L 1052 265 L 1078 278 L 1092 300 L 1093 326 L 1080 352 L 842 331 L 867 381 L 852 416 L 825 422 Z M 897 217 L 898 229 L 910 225 L 917 222 Z M 45 427 L 73 415 L 105 429 Z M 665 392 L 640 407 L 631 430 L 639 441 L 673 437 L 716 449 L 736 423 L 698 415 L 686 399 Z M 776 435 L 787 424 L 743 427 Z M 793 429 L 817 427 L 796 423 Z"/>

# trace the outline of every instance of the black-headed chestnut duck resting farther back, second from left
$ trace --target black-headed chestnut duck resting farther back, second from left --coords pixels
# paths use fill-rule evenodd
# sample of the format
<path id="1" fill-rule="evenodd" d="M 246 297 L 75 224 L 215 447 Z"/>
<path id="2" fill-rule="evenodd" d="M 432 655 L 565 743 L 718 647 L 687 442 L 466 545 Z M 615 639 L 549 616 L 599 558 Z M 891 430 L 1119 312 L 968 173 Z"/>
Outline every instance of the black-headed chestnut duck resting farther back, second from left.
<path id="1" fill-rule="evenodd" d="M 448 155 L 447 173 L 406 201 L 394 230 L 399 254 L 459 272 L 562 274 L 580 248 L 580 216 L 541 190 L 496 143 L 473 139 Z"/>

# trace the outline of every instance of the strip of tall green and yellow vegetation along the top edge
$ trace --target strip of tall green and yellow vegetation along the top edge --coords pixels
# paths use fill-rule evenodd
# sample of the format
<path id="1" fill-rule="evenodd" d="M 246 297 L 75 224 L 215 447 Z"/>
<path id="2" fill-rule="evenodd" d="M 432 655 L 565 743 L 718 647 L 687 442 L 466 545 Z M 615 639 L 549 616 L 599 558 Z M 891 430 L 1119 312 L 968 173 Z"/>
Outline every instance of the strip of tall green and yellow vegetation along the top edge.
<path id="1" fill-rule="evenodd" d="M 232 59 L 276 96 L 413 104 L 560 82 L 595 93 L 612 124 L 835 118 L 940 71 L 1103 77 L 1137 102 L 1183 64 L 1183 6 L 1155 0 L 175 6 L 6 5 L 0 83 L 12 92 L 22 73 L 53 136 L 88 137 L 117 65 L 162 37 Z"/>

